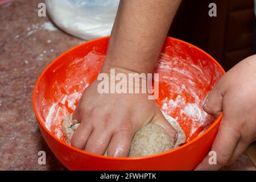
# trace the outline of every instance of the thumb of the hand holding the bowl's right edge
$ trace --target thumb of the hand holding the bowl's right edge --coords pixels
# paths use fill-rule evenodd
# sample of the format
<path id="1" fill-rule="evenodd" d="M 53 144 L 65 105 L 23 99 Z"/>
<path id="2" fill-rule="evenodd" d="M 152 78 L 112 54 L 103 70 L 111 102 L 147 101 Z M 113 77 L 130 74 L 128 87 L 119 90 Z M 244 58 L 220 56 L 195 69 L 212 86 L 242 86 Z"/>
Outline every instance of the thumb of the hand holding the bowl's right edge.
<path id="1" fill-rule="evenodd" d="M 203 109 L 214 118 L 218 118 L 222 111 L 222 98 L 224 96 L 224 89 L 221 82 L 218 82 L 212 91 L 208 93 L 208 96 L 204 100 Z"/>

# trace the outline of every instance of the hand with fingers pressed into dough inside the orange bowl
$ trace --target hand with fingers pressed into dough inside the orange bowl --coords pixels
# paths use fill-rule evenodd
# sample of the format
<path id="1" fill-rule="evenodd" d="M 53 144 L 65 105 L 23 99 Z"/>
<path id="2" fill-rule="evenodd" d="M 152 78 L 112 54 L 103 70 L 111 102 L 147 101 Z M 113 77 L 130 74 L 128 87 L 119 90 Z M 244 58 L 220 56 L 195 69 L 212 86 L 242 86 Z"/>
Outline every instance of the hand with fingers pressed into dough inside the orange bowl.
<path id="1" fill-rule="evenodd" d="M 128 74 L 125 69 L 116 72 Z M 109 74 L 109 73 L 108 73 Z M 73 113 L 81 125 L 73 134 L 71 144 L 81 150 L 108 156 L 128 156 L 135 133 L 150 122 L 158 122 L 176 142 L 177 131 L 164 118 L 148 94 L 118 94 L 97 92 L 94 81 L 85 92 Z"/>

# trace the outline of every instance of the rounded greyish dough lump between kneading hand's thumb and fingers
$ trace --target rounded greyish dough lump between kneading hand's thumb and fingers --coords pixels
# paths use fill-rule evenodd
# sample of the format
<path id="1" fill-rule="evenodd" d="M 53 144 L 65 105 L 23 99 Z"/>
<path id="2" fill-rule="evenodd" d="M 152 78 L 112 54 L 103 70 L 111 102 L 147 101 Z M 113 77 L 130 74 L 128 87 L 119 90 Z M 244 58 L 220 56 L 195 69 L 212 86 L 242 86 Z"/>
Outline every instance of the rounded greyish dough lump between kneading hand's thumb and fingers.
<path id="1" fill-rule="evenodd" d="M 158 154 L 174 148 L 174 141 L 158 123 L 149 123 L 134 135 L 129 157 Z"/>

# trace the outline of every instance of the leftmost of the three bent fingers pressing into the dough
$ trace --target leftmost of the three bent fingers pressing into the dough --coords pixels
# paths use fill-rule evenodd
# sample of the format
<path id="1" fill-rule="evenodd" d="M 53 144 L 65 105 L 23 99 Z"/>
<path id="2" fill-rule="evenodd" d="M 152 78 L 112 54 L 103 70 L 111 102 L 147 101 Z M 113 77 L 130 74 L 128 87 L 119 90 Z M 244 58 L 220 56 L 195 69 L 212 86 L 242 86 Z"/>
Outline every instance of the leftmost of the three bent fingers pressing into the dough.
<path id="1" fill-rule="evenodd" d="M 71 145 L 84 150 L 86 141 L 92 133 L 92 130 L 92 126 L 90 126 L 85 121 L 82 121 L 72 136 Z"/>

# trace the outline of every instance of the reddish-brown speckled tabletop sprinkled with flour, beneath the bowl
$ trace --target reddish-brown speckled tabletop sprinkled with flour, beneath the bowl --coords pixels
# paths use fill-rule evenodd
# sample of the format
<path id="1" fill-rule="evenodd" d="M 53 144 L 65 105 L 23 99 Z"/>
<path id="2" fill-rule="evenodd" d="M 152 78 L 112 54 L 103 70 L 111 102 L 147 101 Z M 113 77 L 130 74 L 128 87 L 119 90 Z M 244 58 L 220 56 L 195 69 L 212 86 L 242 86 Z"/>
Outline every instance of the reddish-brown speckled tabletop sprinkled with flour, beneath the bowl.
<path id="1" fill-rule="evenodd" d="M 43 69 L 64 51 L 84 40 L 53 27 L 38 16 L 40 0 L 0 5 L 0 169 L 65 170 L 49 150 L 32 109 L 32 90 Z M 46 165 L 38 152 L 46 151 Z M 250 152 L 255 162 L 255 145 Z M 255 169 L 246 154 L 223 169 Z"/>

